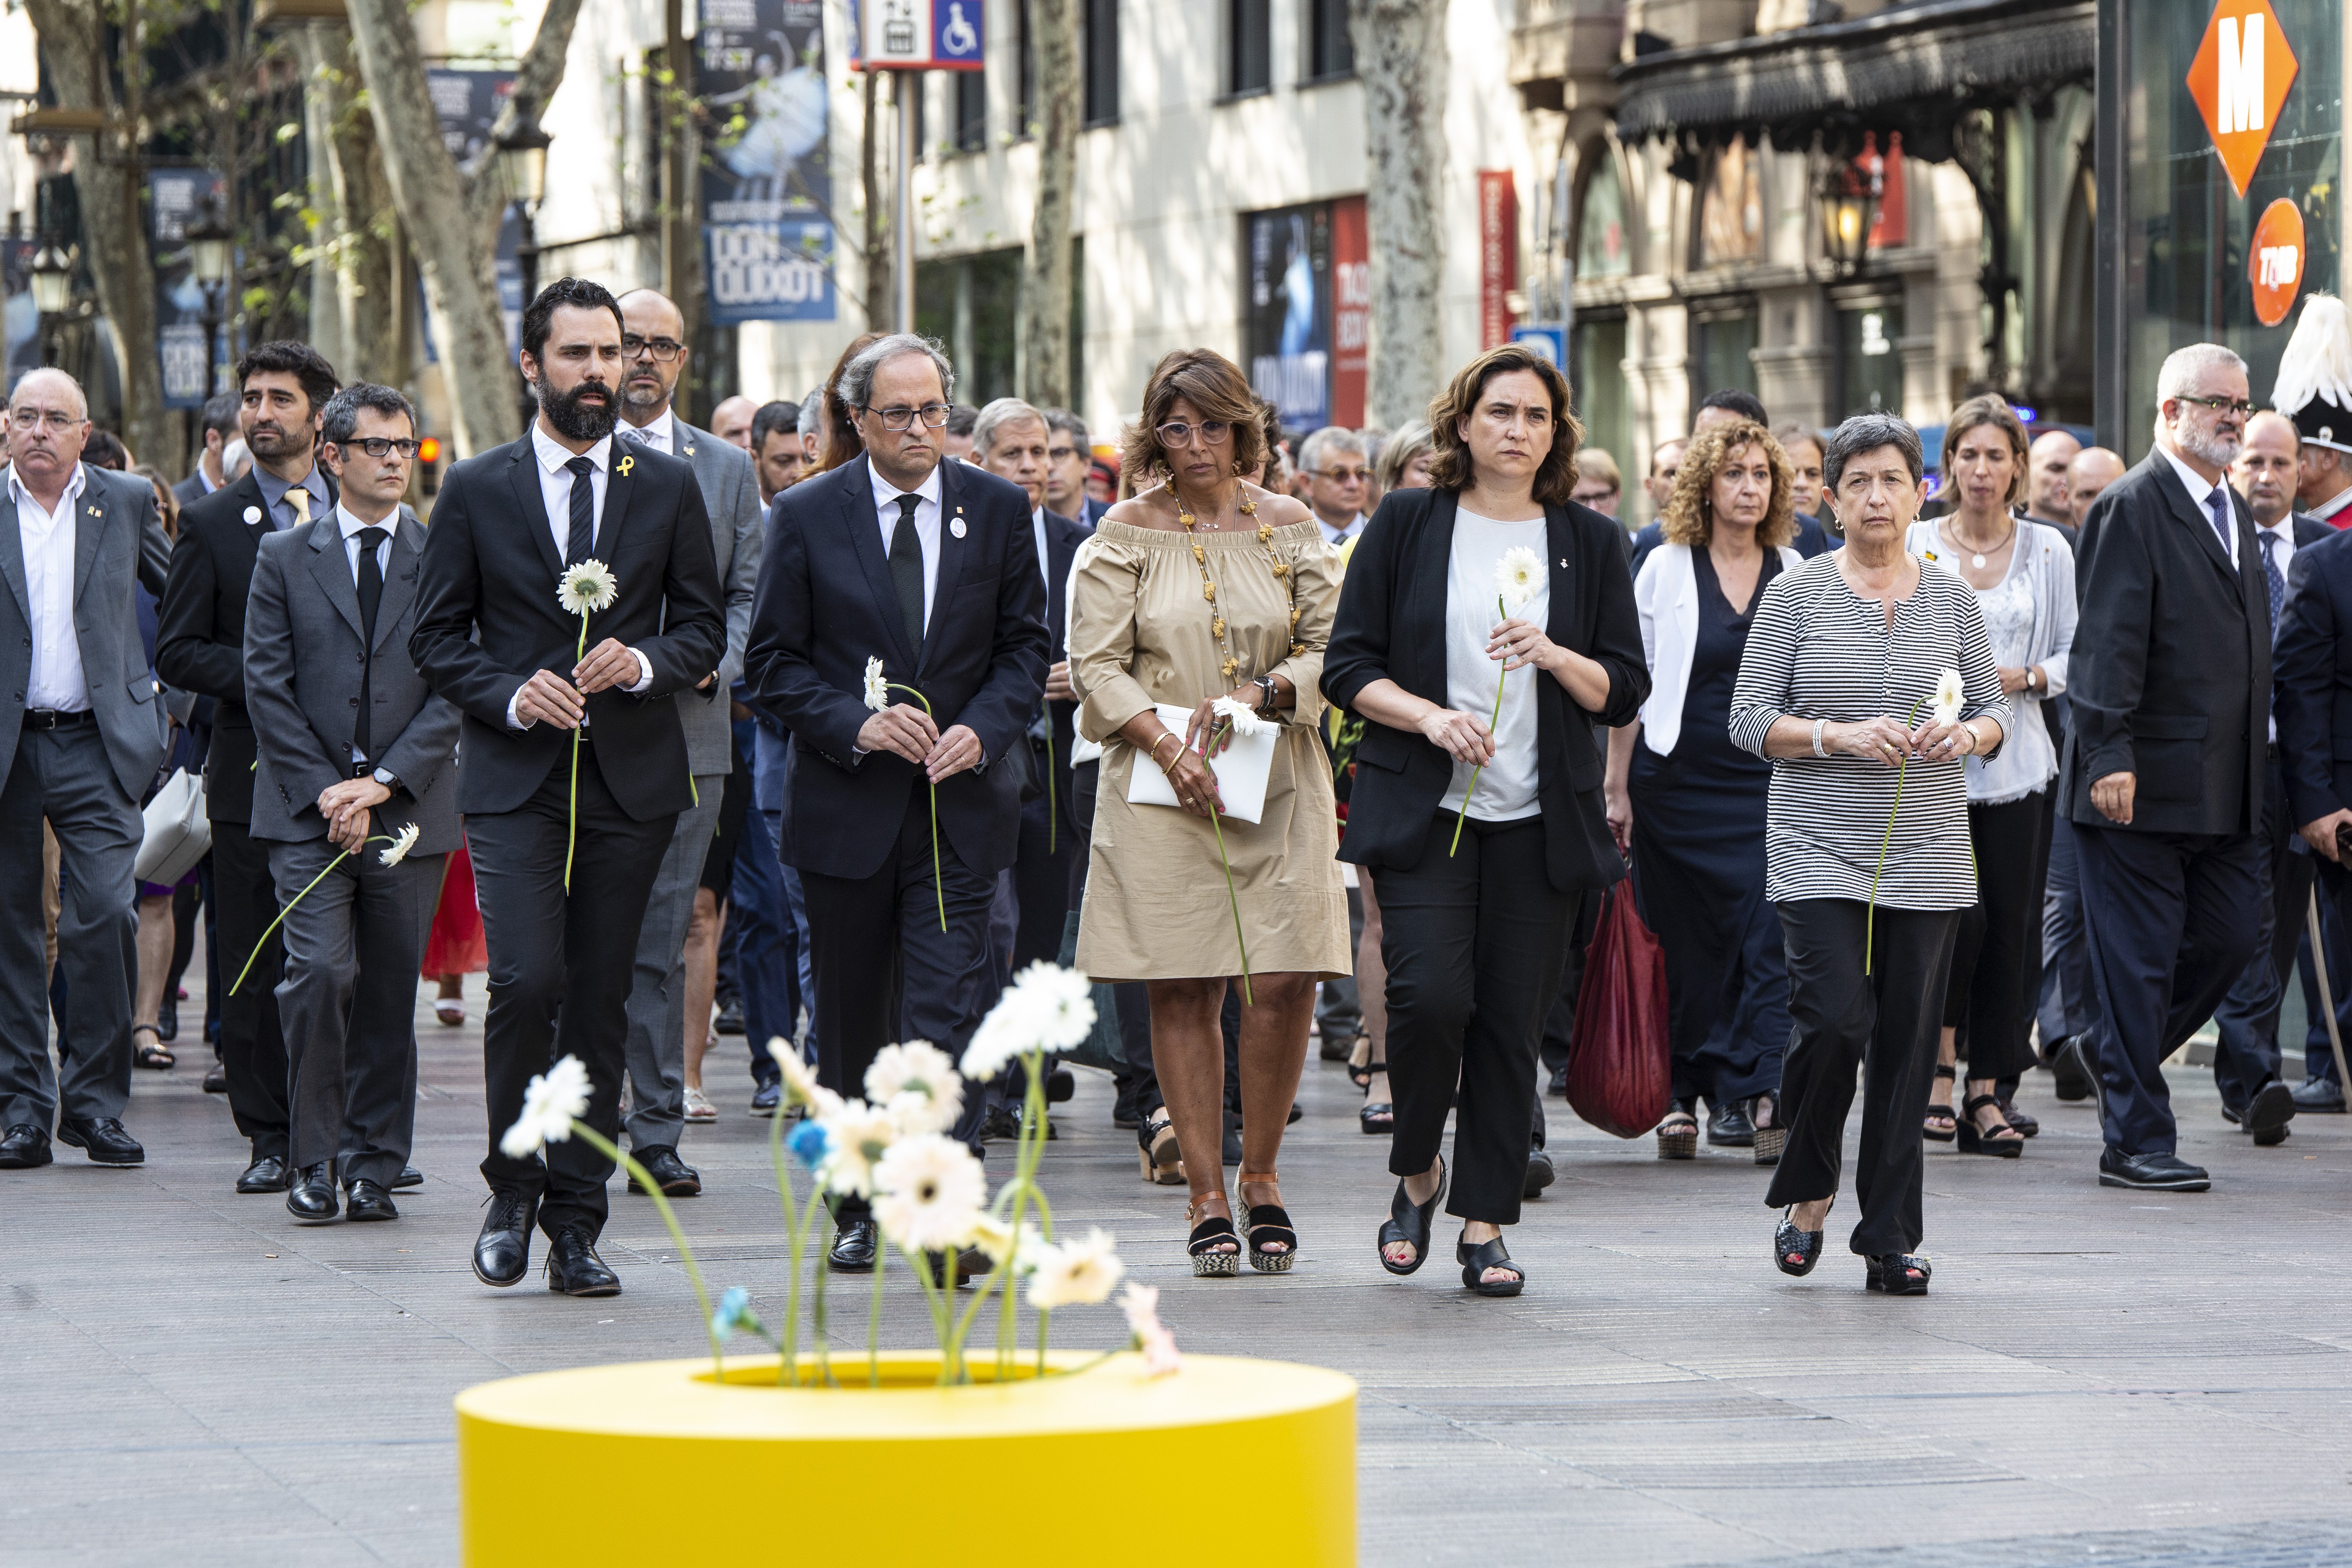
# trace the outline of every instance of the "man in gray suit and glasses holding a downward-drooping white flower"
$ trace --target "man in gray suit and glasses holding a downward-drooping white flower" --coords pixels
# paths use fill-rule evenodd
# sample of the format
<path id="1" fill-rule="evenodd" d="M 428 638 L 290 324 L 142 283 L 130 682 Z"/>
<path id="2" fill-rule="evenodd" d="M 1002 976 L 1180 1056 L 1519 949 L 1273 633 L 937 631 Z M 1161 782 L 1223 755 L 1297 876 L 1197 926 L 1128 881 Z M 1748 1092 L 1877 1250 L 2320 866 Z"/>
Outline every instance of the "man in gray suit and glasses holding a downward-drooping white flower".
<path id="1" fill-rule="evenodd" d="M 252 835 L 289 905 L 278 983 L 287 1213 L 310 1225 L 336 1218 L 339 1154 L 350 1218 L 400 1218 L 390 1187 L 416 1126 L 416 966 L 442 858 L 459 846 L 459 710 L 409 658 L 423 529 L 400 496 L 414 456 L 407 397 L 367 383 L 336 393 L 320 423 L 336 505 L 261 541 L 245 607 Z M 402 853 L 407 827 L 416 839 Z"/>

